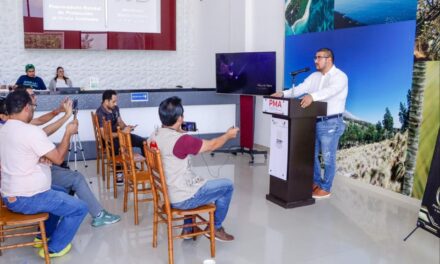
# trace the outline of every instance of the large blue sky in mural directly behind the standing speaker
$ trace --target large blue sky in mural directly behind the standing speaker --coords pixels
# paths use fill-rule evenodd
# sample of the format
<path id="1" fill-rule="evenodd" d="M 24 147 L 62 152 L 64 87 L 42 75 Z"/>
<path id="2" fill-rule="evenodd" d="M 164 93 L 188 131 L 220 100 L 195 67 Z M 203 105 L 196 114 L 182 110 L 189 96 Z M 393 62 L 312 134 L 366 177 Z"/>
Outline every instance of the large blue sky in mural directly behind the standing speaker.
<path id="1" fill-rule="evenodd" d="M 313 56 L 321 47 L 335 52 L 335 64 L 349 79 L 347 111 L 376 123 L 385 107 L 400 127 L 399 103 L 411 88 L 415 21 L 355 27 L 286 37 L 284 86 L 292 85 L 289 72 L 314 69 Z M 296 83 L 308 73 L 300 74 Z"/>

